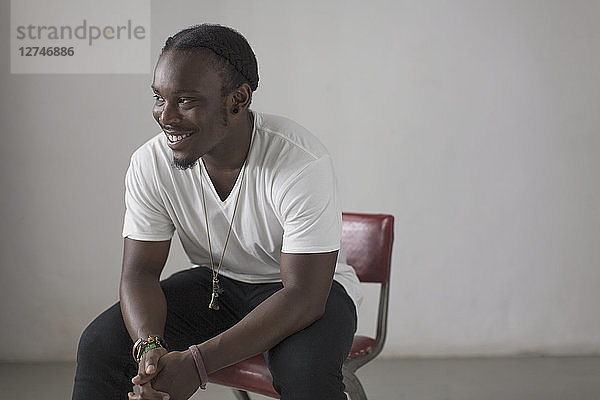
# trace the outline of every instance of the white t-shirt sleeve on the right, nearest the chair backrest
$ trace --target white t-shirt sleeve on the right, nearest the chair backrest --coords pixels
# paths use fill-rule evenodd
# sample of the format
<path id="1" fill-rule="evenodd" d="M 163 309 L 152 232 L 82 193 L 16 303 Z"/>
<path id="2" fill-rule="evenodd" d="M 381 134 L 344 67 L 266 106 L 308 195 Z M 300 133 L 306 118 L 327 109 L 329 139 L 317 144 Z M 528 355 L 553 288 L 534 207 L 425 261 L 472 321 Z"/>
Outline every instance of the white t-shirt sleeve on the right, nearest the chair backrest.
<path id="1" fill-rule="evenodd" d="M 284 185 L 280 195 L 284 253 L 340 249 L 342 212 L 330 157 L 312 161 Z"/>

